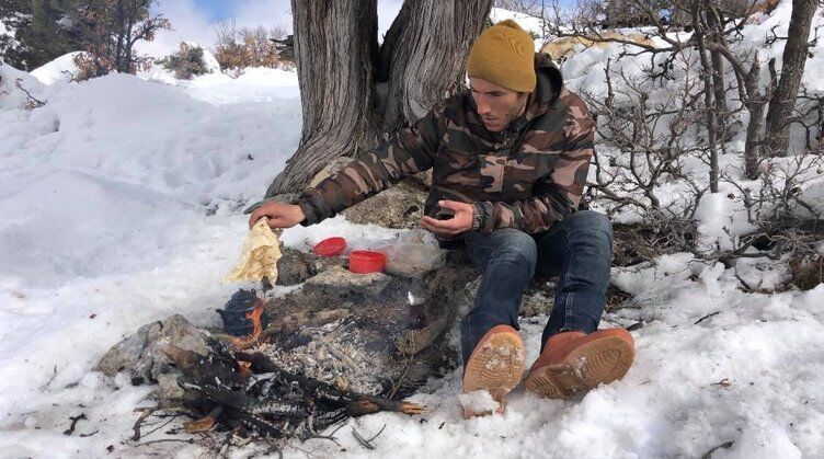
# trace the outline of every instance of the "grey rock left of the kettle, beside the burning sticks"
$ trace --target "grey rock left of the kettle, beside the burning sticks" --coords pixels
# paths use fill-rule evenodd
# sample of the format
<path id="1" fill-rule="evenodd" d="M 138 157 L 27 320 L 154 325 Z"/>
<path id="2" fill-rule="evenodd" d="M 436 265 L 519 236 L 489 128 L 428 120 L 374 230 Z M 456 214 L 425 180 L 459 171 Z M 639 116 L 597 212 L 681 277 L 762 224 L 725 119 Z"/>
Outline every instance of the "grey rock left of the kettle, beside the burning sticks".
<path id="1" fill-rule="evenodd" d="M 159 381 L 159 376 L 174 372 L 163 349 L 173 344 L 199 355 L 209 352 L 209 336 L 183 315 L 148 323 L 135 334 L 115 344 L 101 358 L 98 369 L 106 376 L 126 370 L 135 383 Z M 168 381 L 167 381 L 168 382 Z"/>

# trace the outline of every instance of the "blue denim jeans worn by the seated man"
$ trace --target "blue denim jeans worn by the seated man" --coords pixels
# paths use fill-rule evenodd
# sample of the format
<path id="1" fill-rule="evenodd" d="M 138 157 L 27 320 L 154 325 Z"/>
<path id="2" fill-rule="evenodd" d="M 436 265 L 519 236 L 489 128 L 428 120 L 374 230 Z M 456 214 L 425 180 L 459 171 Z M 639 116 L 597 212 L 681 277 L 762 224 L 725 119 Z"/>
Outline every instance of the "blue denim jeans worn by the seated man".
<path id="1" fill-rule="evenodd" d="M 464 363 L 493 326 L 519 330 L 520 298 L 533 277 L 558 276 L 541 349 L 553 334 L 598 329 L 613 260 L 613 226 L 604 215 L 577 211 L 537 234 L 512 228 L 488 234 L 471 231 L 465 241 L 482 278 L 473 309 L 460 321 Z"/>

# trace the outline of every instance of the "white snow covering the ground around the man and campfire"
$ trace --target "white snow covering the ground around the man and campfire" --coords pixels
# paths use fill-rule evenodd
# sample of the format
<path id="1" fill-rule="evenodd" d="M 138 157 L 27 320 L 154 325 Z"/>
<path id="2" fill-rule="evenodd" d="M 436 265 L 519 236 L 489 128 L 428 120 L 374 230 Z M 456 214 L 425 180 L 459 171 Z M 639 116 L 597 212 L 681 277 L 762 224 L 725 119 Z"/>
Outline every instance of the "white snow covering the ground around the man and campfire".
<path id="1" fill-rule="evenodd" d="M 596 85 L 592 62 L 602 58 L 568 61 L 571 83 Z M 816 59 L 811 77 L 824 69 Z M 152 404 L 151 388 L 93 367 L 149 321 L 182 313 L 218 323 L 214 309 L 237 288 L 220 280 L 245 234 L 240 209 L 260 198 L 299 140 L 297 79 L 255 69 L 239 79 L 113 74 L 76 84 L 39 73 L 0 67 L 0 90 L 11 93 L 0 96 L 0 456 L 199 457 L 197 445 L 130 441 L 134 409 Z M 48 103 L 20 108 L 25 97 L 9 85 L 16 78 Z M 708 236 L 729 211 L 709 198 Z M 304 246 L 331 234 L 393 233 L 339 217 L 284 239 Z M 700 457 L 721 445 L 712 457 L 820 455 L 824 285 L 745 294 L 736 274 L 767 287 L 786 277 L 783 266 L 755 259 L 724 269 L 688 254 L 613 274 L 634 308 L 607 314 L 603 326 L 645 322 L 633 332 L 637 360 L 623 380 L 575 401 L 517 389 L 504 416 L 464 421 L 457 370 L 413 397 L 430 408 L 423 416 L 353 420 L 339 444 L 295 441 L 286 456 Z M 523 325 L 533 359 L 542 319 Z M 87 420 L 64 435 L 81 413 Z M 367 450 L 353 428 L 366 438 L 384 431 Z M 164 431 L 141 441 L 186 438 Z"/>

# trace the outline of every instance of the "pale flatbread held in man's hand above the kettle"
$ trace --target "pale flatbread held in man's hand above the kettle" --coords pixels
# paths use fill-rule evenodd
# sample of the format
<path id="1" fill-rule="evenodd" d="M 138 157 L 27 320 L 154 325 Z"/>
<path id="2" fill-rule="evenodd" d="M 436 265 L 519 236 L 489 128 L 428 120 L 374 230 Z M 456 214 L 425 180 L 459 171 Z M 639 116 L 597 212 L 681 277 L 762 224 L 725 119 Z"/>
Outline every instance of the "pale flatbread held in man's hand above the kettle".
<path id="1" fill-rule="evenodd" d="M 224 283 L 260 282 L 266 277 L 274 285 L 281 256 L 281 241 L 268 227 L 268 218 L 263 217 L 247 234 L 240 263 L 226 275 Z"/>

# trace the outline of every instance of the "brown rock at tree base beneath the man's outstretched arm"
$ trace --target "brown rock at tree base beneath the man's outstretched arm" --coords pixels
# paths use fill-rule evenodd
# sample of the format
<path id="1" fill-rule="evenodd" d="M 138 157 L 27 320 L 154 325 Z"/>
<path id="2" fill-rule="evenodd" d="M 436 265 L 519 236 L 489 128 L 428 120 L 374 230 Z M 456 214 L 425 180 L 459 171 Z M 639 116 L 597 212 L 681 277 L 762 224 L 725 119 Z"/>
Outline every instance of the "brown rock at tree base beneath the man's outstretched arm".
<path id="1" fill-rule="evenodd" d="M 347 220 L 386 228 L 412 228 L 423 216 L 428 190 L 417 179 L 407 179 L 389 190 L 343 211 Z"/>

